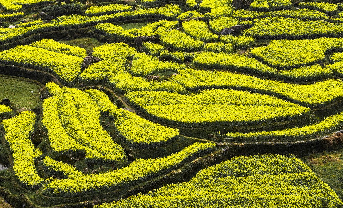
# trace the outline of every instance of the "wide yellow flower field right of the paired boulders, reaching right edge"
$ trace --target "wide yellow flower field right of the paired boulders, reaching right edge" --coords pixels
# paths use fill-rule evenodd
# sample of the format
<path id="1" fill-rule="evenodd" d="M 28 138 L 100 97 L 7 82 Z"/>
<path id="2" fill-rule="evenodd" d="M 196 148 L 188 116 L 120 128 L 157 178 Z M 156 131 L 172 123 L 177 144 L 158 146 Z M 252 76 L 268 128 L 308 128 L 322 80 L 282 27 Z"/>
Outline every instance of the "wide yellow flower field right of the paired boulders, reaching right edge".
<path id="1" fill-rule="evenodd" d="M 296 18 L 266 17 L 256 20 L 252 28 L 243 31 L 258 39 L 309 39 L 319 37 L 342 37 L 343 23 L 323 20 L 303 21 Z"/>

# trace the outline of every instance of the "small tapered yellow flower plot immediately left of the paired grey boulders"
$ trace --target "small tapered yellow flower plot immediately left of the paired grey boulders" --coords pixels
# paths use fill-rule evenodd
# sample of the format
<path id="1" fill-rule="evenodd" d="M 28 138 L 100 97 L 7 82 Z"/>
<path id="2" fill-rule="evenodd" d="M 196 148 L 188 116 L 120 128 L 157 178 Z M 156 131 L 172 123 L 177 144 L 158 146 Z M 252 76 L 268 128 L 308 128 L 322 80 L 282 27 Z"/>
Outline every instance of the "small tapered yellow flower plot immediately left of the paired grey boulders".
<path id="1" fill-rule="evenodd" d="M 185 33 L 197 40 L 204 42 L 218 42 L 218 36 L 213 34 L 207 23 L 201 20 L 189 20 L 182 22 Z"/>

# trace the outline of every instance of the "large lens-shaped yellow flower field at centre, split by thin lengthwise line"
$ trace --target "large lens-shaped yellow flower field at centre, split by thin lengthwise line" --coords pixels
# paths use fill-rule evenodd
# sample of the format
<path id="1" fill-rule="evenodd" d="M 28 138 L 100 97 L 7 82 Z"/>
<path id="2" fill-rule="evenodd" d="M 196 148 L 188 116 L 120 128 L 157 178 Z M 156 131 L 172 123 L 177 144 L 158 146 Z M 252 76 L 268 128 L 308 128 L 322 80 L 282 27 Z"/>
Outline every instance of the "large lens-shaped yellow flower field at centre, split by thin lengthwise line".
<path id="1" fill-rule="evenodd" d="M 307 117 L 310 110 L 269 95 L 236 90 L 204 90 L 188 95 L 141 91 L 127 93 L 126 99 L 153 119 L 188 128 L 291 120 Z"/>

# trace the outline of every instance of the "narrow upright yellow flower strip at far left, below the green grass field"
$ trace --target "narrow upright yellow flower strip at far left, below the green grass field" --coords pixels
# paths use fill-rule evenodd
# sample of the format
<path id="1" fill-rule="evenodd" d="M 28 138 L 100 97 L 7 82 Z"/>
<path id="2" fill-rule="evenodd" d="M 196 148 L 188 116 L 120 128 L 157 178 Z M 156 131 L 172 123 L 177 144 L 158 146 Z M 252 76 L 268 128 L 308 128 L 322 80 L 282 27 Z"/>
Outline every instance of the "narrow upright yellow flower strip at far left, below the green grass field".
<path id="1" fill-rule="evenodd" d="M 31 141 L 35 121 L 36 115 L 30 111 L 2 121 L 5 140 L 13 156 L 15 176 L 28 188 L 38 188 L 43 183 L 35 168 L 35 161 L 40 159 L 43 152 L 36 149 Z"/>

